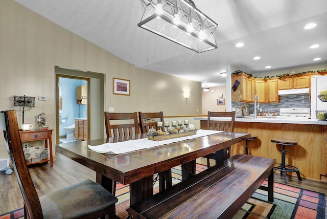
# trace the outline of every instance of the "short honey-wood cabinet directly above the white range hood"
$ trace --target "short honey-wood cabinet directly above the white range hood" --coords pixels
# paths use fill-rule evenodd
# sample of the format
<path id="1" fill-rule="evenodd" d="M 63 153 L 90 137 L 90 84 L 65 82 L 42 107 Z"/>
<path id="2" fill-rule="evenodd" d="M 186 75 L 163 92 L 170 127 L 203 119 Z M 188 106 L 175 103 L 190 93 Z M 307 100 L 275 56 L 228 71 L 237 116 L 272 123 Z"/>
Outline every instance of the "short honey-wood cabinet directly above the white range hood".
<path id="1" fill-rule="evenodd" d="M 280 79 L 279 90 L 300 89 L 310 87 L 310 76 L 293 76 Z"/>

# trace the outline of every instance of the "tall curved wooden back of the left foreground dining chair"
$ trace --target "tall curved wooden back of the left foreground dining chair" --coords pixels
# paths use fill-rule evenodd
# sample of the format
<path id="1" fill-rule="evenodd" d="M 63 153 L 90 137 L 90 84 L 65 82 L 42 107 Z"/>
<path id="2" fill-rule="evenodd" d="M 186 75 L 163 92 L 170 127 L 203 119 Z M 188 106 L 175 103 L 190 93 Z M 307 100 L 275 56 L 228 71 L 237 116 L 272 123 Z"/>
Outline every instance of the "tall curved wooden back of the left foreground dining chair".
<path id="1" fill-rule="evenodd" d="M 24 150 L 21 146 L 19 128 L 15 111 L 0 114 L 0 123 L 4 131 L 5 144 L 16 173 L 18 184 L 24 198 L 25 209 L 30 218 L 43 218 L 40 200 L 28 170 Z"/>

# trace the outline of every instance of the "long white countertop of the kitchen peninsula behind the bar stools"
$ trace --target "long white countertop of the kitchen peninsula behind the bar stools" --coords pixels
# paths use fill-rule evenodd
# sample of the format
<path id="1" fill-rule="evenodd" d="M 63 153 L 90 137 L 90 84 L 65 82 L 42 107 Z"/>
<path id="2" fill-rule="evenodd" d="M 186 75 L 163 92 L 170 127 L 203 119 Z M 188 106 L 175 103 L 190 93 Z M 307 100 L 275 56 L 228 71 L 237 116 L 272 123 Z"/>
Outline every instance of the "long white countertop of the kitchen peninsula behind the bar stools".
<path id="1" fill-rule="evenodd" d="M 207 117 L 196 117 L 195 120 L 207 120 Z M 215 119 L 214 119 L 215 120 Z M 228 120 L 226 118 L 217 118 L 217 120 Z M 308 125 L 327 125 L 327 121 L 319 121 L 317 119 L 287 119 L 287 118 L 271 118 L 271 117 L 259 117 L 254 119 L 253 117 L 235 118 L 236 122 L 263 122 L 263 123 L 286 123 L 286 124 L 308 124 Z"/>

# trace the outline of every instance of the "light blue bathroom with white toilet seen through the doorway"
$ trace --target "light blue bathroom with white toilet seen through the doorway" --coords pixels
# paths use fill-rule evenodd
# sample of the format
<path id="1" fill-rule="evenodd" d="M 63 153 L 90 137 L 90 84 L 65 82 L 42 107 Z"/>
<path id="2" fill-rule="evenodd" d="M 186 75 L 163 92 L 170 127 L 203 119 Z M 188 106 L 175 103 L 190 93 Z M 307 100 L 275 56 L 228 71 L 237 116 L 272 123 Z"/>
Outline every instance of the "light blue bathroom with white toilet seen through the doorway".
<path id="1" fill-rule="evenodd" d="M 87 116 L 87 105 L 84 102 L 78 104 L 76 90 L 80 85 L 87 85 L 86 80 L 74 78 L 59 78 L 59 99 L 61 107 L 59 109 L 59 142 L 66 143 L 76 141 L 75 119 Z"/>

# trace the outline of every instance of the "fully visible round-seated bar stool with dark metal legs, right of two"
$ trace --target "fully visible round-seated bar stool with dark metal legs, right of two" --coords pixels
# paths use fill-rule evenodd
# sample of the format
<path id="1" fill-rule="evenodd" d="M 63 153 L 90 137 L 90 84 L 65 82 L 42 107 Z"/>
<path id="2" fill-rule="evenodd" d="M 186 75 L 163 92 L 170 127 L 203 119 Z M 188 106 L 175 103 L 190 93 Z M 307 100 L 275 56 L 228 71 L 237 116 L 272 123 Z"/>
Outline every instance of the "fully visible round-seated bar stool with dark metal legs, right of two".
<path id="1" fill-rule="evenodd" d="M 272 143 L 283 145 L 283 150 L 282 150 L 282 163 L 276 163 L 280 166 L 274 167 L 274 169 L 281 171 L 281 174 L 284 172 L 284 182 L 285 184 L 287 183 L 287 172 L 296 172 L 297 178 L 299 181 L 302 181 L 302 178 L 300 176 L 300 171 L 296 166 L 292 166 L 289 164 L 285 164 L 285 153 L 289 151 L 285 151 L 285 145 L 289 146 L 295 146 L 297 145 L 296 141 L 292 140 L 287 140 L 287 139 L 270 139 Z"/>

